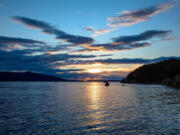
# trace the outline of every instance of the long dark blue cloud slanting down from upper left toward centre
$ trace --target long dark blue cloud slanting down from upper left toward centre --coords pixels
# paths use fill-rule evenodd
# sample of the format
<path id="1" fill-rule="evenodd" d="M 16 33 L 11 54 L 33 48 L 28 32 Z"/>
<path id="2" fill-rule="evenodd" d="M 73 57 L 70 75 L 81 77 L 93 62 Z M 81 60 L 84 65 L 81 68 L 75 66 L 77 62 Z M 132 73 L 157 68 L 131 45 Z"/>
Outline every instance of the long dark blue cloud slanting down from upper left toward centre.
<path id="1" fill-rule="evenodd" d="M 61 31 L 54 26 L 51 26 L 49 23 L 27 18 L 27 17 L 21 17 L 21 16 L 15 16 L 12 17 L 14 21 L 23 23 L 31 28 L 37 28 L 42 30 L 44 33 L 55 35 L 56 39 L 66 40 L 69 43 L 73 44 L 90 44 L 94 41 L 93 38 L 90 37 L 84 37 L 79 35 L 72 35 L 68 34 L 64 31 Z"/>

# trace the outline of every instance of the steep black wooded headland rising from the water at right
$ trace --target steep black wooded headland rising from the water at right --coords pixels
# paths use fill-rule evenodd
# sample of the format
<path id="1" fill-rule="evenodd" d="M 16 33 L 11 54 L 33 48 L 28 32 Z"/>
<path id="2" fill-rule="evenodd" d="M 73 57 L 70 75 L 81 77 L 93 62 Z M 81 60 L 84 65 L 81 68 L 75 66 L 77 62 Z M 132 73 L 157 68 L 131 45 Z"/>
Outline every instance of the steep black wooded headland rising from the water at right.
<path id="1" fill-rule="evenodd" d="M 145 64 L 121 81 L 135 84 L 162 84 L 180 88 L 180 60 L 170 59 L 153 64 Z"/>

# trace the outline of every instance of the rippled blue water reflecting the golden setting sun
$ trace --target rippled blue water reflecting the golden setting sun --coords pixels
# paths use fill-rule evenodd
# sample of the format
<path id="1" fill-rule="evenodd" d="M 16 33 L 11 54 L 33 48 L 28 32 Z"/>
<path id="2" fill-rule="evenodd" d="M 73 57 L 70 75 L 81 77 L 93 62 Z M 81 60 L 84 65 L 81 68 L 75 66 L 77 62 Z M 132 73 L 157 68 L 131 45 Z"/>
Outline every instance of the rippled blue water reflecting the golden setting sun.
<path id="1" fill-rule="evenodd" d="M 0 83 L 0 135 L 180 135 L 180 90 L 99 82 Z"/>

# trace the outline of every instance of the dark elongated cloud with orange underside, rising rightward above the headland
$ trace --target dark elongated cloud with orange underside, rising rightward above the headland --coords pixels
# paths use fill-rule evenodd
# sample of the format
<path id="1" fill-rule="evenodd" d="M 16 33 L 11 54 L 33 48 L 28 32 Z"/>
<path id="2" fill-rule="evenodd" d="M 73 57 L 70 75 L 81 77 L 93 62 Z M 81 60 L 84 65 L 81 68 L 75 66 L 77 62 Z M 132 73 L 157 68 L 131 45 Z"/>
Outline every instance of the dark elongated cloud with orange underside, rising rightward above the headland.
<path id="1" fill-rule="evenodd" d="M 136 48 L 148 47 L 152 43 L 145 42 L 152 38 L 164 38 L 171 34 L 170 30 L 148 30 L 137 35 L 119 36 L 112 38 L 113 42 L 104 44 L 91 44 L 84 47 L 78 52 L 91 52 L 91 51 L 124 51 Z"/>

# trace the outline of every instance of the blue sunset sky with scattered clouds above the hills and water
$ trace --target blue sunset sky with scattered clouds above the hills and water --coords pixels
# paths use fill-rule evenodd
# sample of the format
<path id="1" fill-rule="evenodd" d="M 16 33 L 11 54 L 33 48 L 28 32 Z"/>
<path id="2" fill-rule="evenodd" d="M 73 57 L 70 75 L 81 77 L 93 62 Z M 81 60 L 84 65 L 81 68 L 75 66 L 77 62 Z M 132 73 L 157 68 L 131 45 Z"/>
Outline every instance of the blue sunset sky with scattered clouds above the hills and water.
<path id="1" fill-rule="evenodd" d="M 180 58 L 179 0 L 0 0 L 0 71 L 117 80 Z"/>

